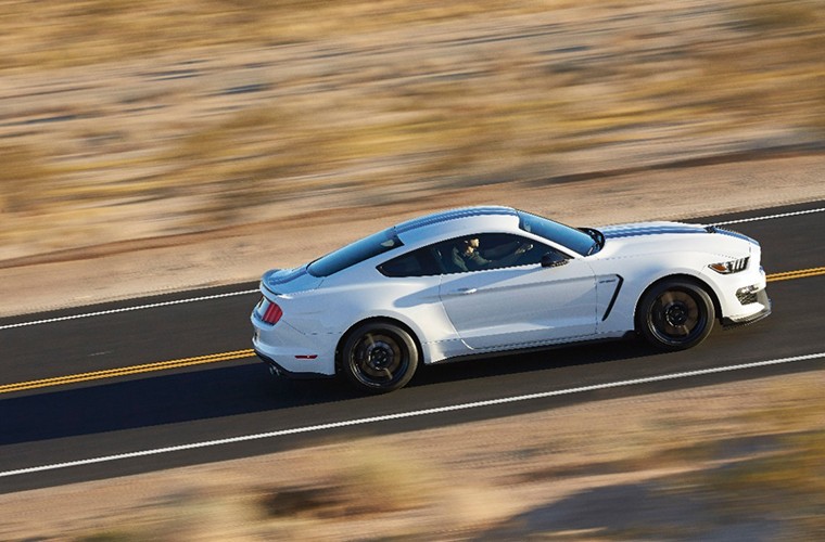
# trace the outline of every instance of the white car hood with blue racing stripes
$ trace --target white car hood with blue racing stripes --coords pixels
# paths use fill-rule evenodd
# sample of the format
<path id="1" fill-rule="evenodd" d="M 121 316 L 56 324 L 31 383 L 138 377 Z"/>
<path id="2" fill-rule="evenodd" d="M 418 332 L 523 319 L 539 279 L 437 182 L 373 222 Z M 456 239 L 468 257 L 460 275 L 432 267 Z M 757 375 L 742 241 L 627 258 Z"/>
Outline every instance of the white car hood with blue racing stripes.
<path id="1" fill-rule="evenodd" d="M 758 245 L 736 232 L 682 222 L 636 222 L 609 225 L 599 231 L 606 240 L 602 257 L 695 250 L 741 258 Z"/>

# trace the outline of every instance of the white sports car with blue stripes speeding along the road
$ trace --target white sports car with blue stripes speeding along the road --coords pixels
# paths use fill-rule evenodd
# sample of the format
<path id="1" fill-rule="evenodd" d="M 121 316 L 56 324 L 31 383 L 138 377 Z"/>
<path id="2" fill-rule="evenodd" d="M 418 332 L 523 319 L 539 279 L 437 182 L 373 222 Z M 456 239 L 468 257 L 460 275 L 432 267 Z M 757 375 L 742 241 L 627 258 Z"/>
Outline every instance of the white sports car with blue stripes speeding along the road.
<path id="1" fill-rule="evenodd" d="M 663 350 L 771 313 L 756 241 L 712 225 L 570 228 L 508 207 L 424 216 L 261 281 L 272 374 L 382 392 L 420 363 L 638 334 Z"/>

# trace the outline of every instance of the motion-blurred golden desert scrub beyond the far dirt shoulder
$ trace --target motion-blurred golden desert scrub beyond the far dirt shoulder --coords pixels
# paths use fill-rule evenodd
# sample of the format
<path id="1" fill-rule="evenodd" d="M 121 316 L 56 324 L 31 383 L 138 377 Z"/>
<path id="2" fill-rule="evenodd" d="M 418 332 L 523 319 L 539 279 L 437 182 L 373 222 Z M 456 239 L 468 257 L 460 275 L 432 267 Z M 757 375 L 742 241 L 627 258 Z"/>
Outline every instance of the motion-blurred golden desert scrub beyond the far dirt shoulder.
<path id="1" fill-rule="evenodd" d="M 825 134 L 822 0 L 0 10 L 0 261 Z"/>

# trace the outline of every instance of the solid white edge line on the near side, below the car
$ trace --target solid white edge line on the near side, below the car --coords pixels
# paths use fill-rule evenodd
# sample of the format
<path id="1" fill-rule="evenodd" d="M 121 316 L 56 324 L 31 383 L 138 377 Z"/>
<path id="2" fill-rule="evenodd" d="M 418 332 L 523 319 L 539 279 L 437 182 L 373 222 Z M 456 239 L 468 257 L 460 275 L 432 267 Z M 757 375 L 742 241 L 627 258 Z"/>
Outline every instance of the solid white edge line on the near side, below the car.
<path id="1" fill-rule="evenodd" d="M 40 465 L 35 467 L 17 468 L 15 470 L 0 472 L 0 478 L 10 476 L 17 476 L 24 474 L 42 473 L 45 470 L 56 470 L 60 468 L 76 467 L 82 465 L 92 465 L 96 463 L 109 463 L 119 460 L 129 460 L 135 457 L 144 457 L 147 455 L 160 455 L 164 453 L 180 452 L 186 450 L 195 450 L 199 448 L 211 448 L 224 444 L 233 444 L 238 442 L 248 442 L 250 440 L 262 440 L 277 437 L 285 437 L 288 435 L 299 435 L 304 433 L 317 433 L 326 431 L 330 429 L 338 429 L 341 427 L 351 427 L 355 425 L 376 424 L 379 422 L 389 422 L 392 420 L 403 420 L 407 417 L 429 416 L 431 414 L 443 414 L 445 412 L 455 412 L 460 410 L 479 409 L 482 406 L 495 406 L 498 404 L 532 401 L 535 399 L 546 399 L 549 397 L 568 396 L 573 393 L 582 393 L 585 391 L 595 391 L 599 389 L 619 388 L 623 386 L 635 386 L 638 384 L 649 384 L 663 380 L 675 380 L 678 378 L 689 378 L 693 376 L 702 376 L 708 374 L 724 373 L 729 371 L 742 371 L 746 369 L 763 367 L 767 365 L 779 365 L 783 363 L 794 363 L 797 361 L 815 360 L 825 358 L 825 352 L 811 353 L 807 356 L 795 356 L 792 358 L 782 358 L 777 360 L 757 361 L 752 363 L 741 363 L 739 365 L 728 365 L 723 367 L 702 369 L 698 371 L 686 371 L 683 373 L 673 373 L 659 376 L 648 376 L 645 378 L 633 378 L 630 380 L 618 380 L 606 384 L 594 384 L 592 386 L 581 386 L 578 388 L 559 389 L 556 391 L 542 391 L 538 393 L 529 393 L 524 396 L 504 397 L 500 399 L 490 399 L 486 401 L 475 401 L 470 403 L 453 404 L 448 406 L 437 406 L 433 409 L 414 410 L 409 412 L 399 412 L 397 414 L 385 414 L 383 416 L 360 417 L 356 420 L 347 420 L 344 422 L 332 422 L 329 424 L 309 425 L 305 427 L 295 427 L 293 429 L 281 429 L 270 433 L 259 433 L 255 435 L 244 435 L 241 437 L 230 437 L 218 440 L 206 440 L 202 442 L 193 442 L 190 444 L 172 446 L 167 448 L 156 448 L 153 450 L 141 450 L 138 452 L 119 453 L 116 455 L 103 455 L 100 457 L 91 457 L 87 460 L 67 461 L 65 463 L 53 463 L 51 465 Z"/>

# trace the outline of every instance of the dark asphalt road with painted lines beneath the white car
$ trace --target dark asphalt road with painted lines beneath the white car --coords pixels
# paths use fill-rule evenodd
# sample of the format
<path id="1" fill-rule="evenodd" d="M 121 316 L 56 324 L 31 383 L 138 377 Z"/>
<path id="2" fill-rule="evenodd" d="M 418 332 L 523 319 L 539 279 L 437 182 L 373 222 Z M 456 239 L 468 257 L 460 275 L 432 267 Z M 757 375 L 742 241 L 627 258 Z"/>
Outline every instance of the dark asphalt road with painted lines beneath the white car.
<path id="1" fill-rule="evenodd" d="M 778 280 L 825 266 L 825 212 L 798 214 L 824 207 L 695 220 L 796 212 L 728 225 L 760 241 L 776 278 L 774 313 L 754 325 L 716 327 L 686 352 L 631 340 L 422 367 L 407 388 L 378 397 L 335 380 L 270 379 L 249 354 L 254 283 L 0 320 L 0 492 L 823 369 L 825 354 L 714 372 L 825 352 L 825 274 Z M 157 306 L 122 310 L 148 304 Z M 90 312 L 101 313 L 75 318 Z M 680 373 L 689 374 L 668 377 Z"/>

